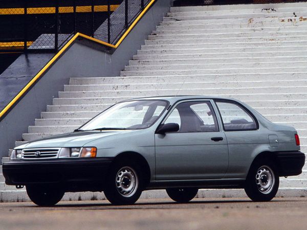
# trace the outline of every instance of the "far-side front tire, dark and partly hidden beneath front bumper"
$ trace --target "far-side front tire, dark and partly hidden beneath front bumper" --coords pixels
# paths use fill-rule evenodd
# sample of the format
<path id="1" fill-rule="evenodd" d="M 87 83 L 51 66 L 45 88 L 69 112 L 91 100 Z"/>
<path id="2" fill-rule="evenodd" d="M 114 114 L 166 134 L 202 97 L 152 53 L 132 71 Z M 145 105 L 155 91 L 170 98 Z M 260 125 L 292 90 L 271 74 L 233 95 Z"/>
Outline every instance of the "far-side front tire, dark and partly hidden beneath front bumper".
<path id="1" fill-rule="evenodd" d="M 32 202 L 39 206 L 53 206 L 64 195 L 60 188 L 50 185 L 28 185 L 26 190 Z"/>

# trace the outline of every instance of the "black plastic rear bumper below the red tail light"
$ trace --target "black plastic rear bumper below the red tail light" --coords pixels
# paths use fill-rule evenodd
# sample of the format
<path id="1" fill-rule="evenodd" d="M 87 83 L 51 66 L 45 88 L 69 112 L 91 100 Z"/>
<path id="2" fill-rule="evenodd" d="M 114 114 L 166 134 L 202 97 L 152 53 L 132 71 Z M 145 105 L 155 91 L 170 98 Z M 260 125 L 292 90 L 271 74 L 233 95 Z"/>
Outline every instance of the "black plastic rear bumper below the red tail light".
<path id="1" fill-rule="evenodd" d="M 302 173 L 305 154 L 299 151 L 276 152 L 279 176 L 295 176 Z"/>

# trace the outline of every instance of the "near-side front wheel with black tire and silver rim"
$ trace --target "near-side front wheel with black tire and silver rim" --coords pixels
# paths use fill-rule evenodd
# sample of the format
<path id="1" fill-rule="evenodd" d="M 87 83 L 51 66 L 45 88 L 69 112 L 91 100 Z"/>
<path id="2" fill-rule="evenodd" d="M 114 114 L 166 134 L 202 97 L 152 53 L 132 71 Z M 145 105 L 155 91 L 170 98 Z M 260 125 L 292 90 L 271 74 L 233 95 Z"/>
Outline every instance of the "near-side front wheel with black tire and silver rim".
<path id="1" fill-rule="evenodd" d="M 140 167 L 133 161 L 124 160 L 109 170 L 104 195 L 115 205 L 134 204 L 141 196 L 143 185 Z"/>

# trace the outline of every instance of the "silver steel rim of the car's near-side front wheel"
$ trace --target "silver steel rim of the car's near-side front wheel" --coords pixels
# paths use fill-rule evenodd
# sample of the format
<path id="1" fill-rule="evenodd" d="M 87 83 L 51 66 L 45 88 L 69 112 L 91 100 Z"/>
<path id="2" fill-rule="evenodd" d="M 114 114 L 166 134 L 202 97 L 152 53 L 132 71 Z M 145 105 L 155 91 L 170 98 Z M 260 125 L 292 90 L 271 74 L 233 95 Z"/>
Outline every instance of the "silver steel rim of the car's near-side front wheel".
<path id="1" fill-rule="evenodd" d="M 117 191 L 124 197 L 133 196 L 139 185 L 137 173 L 130 167 L 121 168 L 116 174 Z"/>

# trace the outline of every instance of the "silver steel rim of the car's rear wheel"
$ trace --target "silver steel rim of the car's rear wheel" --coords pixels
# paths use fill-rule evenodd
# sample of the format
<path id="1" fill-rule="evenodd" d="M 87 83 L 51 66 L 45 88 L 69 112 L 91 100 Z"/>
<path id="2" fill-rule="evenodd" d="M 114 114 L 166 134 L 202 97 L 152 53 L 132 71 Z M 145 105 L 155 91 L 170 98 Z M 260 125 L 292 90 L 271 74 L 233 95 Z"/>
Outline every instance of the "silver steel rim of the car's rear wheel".
<path id="1" fill-rule="evenodd" d="M 261 166 L 256 173 L 256 185 L 263 194 L 270 193 L 275 185 L 275 176 L 269 166 Z"/>

